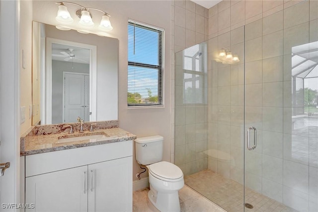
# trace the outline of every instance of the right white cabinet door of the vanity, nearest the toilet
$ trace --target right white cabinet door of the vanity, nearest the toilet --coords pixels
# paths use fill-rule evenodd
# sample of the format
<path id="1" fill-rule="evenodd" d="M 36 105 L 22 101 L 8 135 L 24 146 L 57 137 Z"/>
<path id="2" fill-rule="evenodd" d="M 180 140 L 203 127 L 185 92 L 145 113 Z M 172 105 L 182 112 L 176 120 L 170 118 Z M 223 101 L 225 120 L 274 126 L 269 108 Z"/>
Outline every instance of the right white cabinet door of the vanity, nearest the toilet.
<path id="1" fill-rule="evenodd" d="M 132 211 L 132 157 L 88 165 L 88 211 Z"/>

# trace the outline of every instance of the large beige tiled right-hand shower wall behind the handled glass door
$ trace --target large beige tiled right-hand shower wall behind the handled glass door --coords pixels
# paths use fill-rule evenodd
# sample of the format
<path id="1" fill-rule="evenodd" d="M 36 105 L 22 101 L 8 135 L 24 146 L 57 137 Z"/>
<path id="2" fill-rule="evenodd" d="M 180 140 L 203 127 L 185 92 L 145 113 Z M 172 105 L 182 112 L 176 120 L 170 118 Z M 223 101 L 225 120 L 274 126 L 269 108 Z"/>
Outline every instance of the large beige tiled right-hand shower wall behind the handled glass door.
<path id="1" fill-rule="evenodd" d="M 318 41 L 317 18 L 317 0 L 223 0 L 209 9 L 211 59 L 244 42 L 245 103 L 243 67 L 209 64 L 209 149 L 231 158 L 209 157 L 208 167 L 243 183 L 245 105 L 245 127 L 257 128 L 257 148 L 245 150 L 245 185 L 300 211 L 318 210 L 318 125 L 308 113 L 300 125 L 292 119 L 304 106 L 292 104 L 291 50 Z"/>

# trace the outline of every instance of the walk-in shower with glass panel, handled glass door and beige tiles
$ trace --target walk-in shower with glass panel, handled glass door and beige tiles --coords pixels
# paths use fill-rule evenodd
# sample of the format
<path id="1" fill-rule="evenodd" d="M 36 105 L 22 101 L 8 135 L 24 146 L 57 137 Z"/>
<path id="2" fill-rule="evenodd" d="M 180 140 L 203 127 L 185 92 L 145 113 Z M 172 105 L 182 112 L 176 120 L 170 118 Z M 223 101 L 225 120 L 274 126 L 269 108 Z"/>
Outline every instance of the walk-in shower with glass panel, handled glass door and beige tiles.
<path id="1" fill-rule="evenodd" d="M 175 164 L 227 211 L 318 211 L 313 2 L 175 54 Z"/>

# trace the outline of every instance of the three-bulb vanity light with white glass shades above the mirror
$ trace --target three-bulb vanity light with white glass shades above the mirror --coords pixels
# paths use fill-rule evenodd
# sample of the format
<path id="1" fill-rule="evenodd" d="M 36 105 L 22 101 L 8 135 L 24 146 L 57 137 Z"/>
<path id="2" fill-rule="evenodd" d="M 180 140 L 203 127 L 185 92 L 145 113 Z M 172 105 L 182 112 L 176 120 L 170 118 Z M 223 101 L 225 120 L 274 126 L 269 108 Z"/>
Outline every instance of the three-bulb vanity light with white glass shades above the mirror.
<path id="1" fill-rule="evenodd" d="M 110 31 L 113 29 L 109 20 L 110 15 L 103 10 L 84 7 L 78 3 L 73 3 L 68 1 L 60 1 L 56 3 L 59 4 L 59 10 L 58 10 L 58 15 L 56 16 L 55 19 L 61 23 L 68 24 L 74 21 L 67 7 L 64 5 L 64 4 L 73 4 L 73 5 L 77 5 L 81 7 L 80 9 L 76 11 L 76 15 L 79 17 L 79 24 L 83 26 L 84 28 L 91 28 L 94 26 L 92 15 L 89 11 L 97 10 L 103 13 L 100 24 L 99 24 L 99 28 L 104 31 Z"/>

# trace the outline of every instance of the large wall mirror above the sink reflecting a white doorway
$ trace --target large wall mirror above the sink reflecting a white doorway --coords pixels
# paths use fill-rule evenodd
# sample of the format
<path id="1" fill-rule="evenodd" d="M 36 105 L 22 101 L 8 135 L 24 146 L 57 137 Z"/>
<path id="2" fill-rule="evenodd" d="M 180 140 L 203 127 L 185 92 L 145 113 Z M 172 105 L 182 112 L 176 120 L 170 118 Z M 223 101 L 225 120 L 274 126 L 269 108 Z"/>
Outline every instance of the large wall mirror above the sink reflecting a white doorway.
<path id="1" fill-rule="evenodd" d="M 118 39 L 32 28 L 32 125 L 118 119 Z"/>

